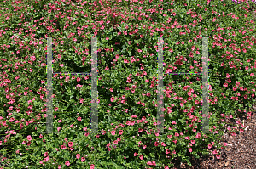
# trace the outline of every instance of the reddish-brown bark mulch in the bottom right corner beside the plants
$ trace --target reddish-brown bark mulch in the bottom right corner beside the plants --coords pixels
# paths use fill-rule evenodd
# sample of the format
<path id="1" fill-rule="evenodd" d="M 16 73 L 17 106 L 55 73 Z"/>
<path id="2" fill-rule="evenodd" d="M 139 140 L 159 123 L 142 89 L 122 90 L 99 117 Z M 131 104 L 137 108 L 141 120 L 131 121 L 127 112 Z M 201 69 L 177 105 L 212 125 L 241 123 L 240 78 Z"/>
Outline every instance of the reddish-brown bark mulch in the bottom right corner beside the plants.
<path id="1" fill-rule="evenodd" d="M 238 117 L 236 120 L 241 121 L 247 127 L 244 132 L 236 132 L 236 136 L 225 133 L 220 143 L 227 143 L 224 149 L 216 149 L 221 152 L 220 159 L 215 155 L 207 155 L 200 159 L 192 158 L 192 166 L 183 164 L 178 159 L 174 160 L 175 167 L 172 169 L 254 169 L 256 168 L 256 104 L 253 104 L 253 112 L 250 119 Z M 229 120 L 227 120 L 229 121 Z M 244 122 L 244 123 L 243 123 Z M 229 121 L 230 127 L 236 127 L 236 121 Z M 228 127 L 228 125 L 227 125 Z M 225 127 L 225 128 L 227 128 Z M 241 128 L 241 127 L 240 127 Z M 212 151 L 215 149 L 212 149 Z"/>

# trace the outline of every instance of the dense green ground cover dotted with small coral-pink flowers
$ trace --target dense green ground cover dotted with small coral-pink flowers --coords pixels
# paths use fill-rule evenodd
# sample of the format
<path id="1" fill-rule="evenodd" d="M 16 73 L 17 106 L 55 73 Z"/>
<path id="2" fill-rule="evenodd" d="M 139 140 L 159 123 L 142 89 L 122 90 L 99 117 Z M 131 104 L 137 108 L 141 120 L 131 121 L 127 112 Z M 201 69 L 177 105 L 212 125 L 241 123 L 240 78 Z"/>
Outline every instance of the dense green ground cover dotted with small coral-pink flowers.
<path id="1" fill-rule="evenodd" d="M 0 15 L 2 168 L 171 168 L 212 153 L 225 132 L 243 132 L 255 98 L 255 3 L 242 1 L 4 1 Z M 98 127 L 90 131 L 90 75 L 53 76 L 46 131 L 47 40 L 54 72 L 90 72 L 98 48 Z M 100 38 L 103 37 L 103 38 Z M 157 38 L 164 72 L 200 72 L 209 37 L 209 134 L 201 131 L 201 76 L 164 76 L 165 131 L 157 121 Z M 169 38 L 170 37 L 170 38 Z M 242 102 L 242 103 L 241 103 Z M 245 108 L 247 107 L 247 108 Z"/>

